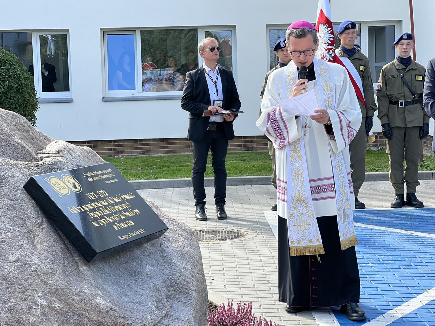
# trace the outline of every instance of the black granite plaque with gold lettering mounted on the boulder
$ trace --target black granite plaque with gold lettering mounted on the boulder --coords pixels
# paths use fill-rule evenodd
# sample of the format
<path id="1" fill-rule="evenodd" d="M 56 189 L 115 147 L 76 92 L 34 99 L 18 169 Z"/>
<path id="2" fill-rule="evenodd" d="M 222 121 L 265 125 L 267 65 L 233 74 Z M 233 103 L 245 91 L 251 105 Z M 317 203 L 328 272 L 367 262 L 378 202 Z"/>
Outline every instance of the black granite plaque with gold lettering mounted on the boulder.
<path id="1" fill-rule="evenodd" d="M 32 176 L 24 189 L 88 263 L 167 230 L 112 163 Z"/>

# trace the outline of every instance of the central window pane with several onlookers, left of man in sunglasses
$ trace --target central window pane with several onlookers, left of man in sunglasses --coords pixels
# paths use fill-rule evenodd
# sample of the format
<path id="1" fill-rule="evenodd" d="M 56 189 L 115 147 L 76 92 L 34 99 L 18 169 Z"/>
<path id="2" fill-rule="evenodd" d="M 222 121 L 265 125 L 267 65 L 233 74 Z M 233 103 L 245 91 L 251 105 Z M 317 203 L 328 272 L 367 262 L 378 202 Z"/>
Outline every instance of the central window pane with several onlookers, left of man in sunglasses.
<path id="1" fill-rule="evenodd" d="M 198 68 L 197 29 L 141 30 L 142 90 L 182 91 L 187 72 Z"/>

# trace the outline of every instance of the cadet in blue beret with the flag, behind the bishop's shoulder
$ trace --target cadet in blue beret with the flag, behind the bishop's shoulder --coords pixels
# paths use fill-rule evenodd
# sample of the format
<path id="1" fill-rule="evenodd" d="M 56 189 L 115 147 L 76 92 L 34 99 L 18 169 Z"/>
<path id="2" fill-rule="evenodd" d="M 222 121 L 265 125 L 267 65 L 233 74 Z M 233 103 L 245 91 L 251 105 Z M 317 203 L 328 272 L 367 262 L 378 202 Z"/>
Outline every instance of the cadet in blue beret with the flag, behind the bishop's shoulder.
<path id="1" fill-rule="evenodd" d="M 368 57 L 362 54 L 361 48 L 359 46 L 356 47 L 355 44 L 356 23 L 351 20 L 346 20 L 341 23 L 338 27 L 338 38 L 341 40 L 341 46 L 340 49 L 337 50 L 337 55 L 342 58 L 343 63 L 350 61 L 350 65 L 346 65 L 346 67 L 349 72 L 351 72 L 357 84 L 361 87 L 358 87 L 360 94 L 358 94 L 358 90 L 355 89 L 362 113 L 361 126 L 355 138 L 349 144 L 352 183 L 355 191 L 355 209 L 361 210 L 365 208 L 365 205 L 358 200 L 358 193 L 365 180 L 367 136 L 373 127 L 373 115 L 378 108 L 376 107 L 375 95 L 373 93 Z"/>

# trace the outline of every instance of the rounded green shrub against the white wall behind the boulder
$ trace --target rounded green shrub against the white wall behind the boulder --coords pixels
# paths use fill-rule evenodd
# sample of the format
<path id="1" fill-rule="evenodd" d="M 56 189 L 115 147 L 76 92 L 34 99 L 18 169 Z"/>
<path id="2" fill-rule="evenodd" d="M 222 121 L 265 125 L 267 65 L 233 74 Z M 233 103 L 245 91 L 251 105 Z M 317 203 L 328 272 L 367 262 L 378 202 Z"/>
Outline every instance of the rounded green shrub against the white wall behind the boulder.
<path id="1" fill-rule="evenodd" d="M 0 48 L 0 108 L 24 116 L 35 126 L 38 105 L 33 77 L 20 59 Z"/>

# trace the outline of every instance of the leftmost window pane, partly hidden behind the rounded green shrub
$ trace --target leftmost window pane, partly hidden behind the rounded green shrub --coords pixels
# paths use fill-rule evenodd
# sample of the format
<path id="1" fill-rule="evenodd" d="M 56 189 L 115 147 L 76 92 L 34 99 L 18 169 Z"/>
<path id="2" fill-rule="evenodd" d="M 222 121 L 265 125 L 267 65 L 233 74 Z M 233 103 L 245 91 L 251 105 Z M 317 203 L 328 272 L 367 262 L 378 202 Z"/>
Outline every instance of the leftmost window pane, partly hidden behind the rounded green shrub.
<path id="1" fill-rule="evenodd" d="M 33 65 L 32 33 L 0 33 L 0 47 L 16 55 L 26 68 Z"/>

